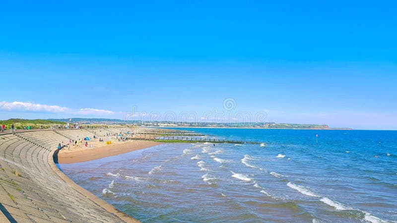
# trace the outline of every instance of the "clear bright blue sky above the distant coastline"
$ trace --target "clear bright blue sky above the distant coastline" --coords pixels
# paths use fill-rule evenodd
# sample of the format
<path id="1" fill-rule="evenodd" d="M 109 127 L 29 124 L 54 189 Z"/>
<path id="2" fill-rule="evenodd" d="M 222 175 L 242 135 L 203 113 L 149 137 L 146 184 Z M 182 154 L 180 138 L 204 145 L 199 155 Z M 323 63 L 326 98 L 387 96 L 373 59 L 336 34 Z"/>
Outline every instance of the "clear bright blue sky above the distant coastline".
<path id="1" fill-rule="evenodd" d="M 211 121 L 208 111 L 223 111 L 236 121 L 236 112 L 265 112 L 265 121 L 397 129 L 396 8 L 396 1 L 3 2 L 0 119 L 194 112 Z M 233 109 L 223 107 L 226 99 Z"/>

